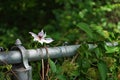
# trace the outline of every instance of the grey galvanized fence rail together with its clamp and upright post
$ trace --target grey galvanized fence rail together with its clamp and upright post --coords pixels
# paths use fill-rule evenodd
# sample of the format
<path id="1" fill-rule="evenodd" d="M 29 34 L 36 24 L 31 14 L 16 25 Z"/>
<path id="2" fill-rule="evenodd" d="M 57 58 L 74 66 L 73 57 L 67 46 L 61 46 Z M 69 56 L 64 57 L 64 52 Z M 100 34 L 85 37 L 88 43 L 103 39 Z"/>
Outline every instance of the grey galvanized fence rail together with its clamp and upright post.
<path id="1" fill-rule="evenodd" d="M 29 61 L 38 61 L 58 57 L 69 57 L 75 54 L 80 45 L 59 46 L 25 49 L 19 39 L 16 40 L 16 46 L 12 47 L 11 51 L 0 52 L 0 65 L 12 64 L 12 69 L 15 72 L 12 80 L 32 80 L 32 67 L 28 64 Z M 117 42 L 109 43 L 108 46 L 116 46 Z M 97 47 L 94 44 L 88 44 L 89 49 Z"/>

